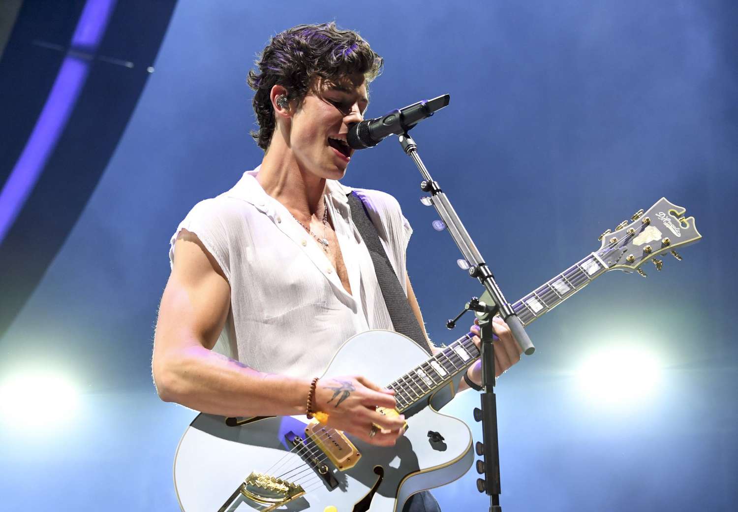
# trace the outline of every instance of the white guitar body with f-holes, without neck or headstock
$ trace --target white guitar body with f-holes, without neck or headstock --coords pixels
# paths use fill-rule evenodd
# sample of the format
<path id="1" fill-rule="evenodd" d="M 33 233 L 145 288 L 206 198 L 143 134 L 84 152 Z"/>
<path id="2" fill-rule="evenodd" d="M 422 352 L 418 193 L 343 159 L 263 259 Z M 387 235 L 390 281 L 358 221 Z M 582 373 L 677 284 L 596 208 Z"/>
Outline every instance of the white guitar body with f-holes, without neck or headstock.
<path id="1" fill-rule="evenodd" d="M 384 385 L 427 357 L 413 341 L 396 332 L 363 332 L 342 345 L 323 378 L 360 374 Z M 444 393 L 452 393 L 449 386 L 436 395 Z M 174 461 L 179 505 L 184 512 L 217 512 L 244 479 L 258 471 L 298 483 L 306 491 L 274 510 L 323 512 L 333 505 L 338 512 L 399 512 L 418 491 L 461 477 L 474 458 L 471 432 L 461 420 L 440 414 L 432 406 L 411 413 L 406 413 L 408 428 L 396 446 L 371 446 L 349 436 L 361 458 L 347 471 L 334 469 L 339 485 L 333 489 L 300 455 L 290 453 L 292 446 L 286 443 L 285 434 L 290 431 L 303 437 L 306 417 L 266 417 L 227 426 L 224 417 L 199 414 L 184 432 Z M 438 432 L 443 440 L 434 441 L 429 431 Z M 238 494 L 224 510 L 268 508 Z"/>

